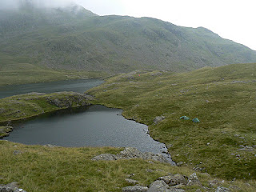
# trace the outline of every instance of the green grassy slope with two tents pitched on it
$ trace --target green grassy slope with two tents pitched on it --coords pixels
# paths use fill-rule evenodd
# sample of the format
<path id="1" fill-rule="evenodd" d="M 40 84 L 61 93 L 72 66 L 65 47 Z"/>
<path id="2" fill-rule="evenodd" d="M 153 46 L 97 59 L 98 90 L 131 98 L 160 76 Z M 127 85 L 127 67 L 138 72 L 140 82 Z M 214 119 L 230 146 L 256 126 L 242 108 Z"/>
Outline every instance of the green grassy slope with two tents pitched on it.
<path id="1" fill-rule="evenodd" d="M 89 90 L 169 146 L 175 162 L 214 177 L 256 179 L 256 64 L 183 74 L 137 71 Z M 200 123 L 180 119 L 186 115 Z M 154 118 L 165 119 L 154 124 Z"/>

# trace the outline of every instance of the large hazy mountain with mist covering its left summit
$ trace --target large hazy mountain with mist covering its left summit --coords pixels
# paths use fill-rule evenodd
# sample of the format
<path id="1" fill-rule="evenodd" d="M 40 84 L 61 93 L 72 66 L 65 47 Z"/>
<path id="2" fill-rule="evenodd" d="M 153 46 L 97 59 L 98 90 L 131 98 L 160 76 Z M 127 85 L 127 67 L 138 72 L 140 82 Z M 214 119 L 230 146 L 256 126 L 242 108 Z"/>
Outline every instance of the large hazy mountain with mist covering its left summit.
<path id="1" fill-rule="evenodd" d="M 256 62 L 256 51 L 203 27 L 154 18 L 100 17 L 76 4 L 19 2 L 16 9 L 0 12 L 0 55 L 17 63 L 118 73 Z"/>

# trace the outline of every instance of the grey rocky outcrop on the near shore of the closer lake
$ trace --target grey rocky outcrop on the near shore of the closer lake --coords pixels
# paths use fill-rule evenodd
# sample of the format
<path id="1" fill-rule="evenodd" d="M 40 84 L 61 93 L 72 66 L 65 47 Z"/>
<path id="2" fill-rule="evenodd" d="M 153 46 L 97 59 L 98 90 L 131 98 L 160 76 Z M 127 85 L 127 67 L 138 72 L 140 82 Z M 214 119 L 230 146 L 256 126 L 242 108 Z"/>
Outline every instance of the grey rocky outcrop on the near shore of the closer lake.
<path id="1" fill-rule="evenodd" d="M 134 147 L 126 147 L 125 150 L 122 150 L 119 154 L 100 154 L 92 158 L 92 160 L 113 161 L 118 159 L 131 158 L 142 158 L 145 160 L 170 163 L 170 160 L 167 160 L 162 154 L 142 153 Z"/>

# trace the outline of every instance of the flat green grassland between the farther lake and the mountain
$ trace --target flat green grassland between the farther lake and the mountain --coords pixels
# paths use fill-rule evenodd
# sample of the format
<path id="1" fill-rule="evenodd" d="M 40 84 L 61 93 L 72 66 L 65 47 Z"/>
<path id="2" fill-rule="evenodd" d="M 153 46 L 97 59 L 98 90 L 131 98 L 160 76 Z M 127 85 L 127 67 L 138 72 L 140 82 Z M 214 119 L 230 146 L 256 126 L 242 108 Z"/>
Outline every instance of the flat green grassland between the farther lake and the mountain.
<path id="1" fill-rule="evenodd" d="M 78 78 L 103 78 L 106 72 L 86 70 L 51 70 L 34 65 L 33 59 L 0 54 L 0 86 L 36 82 L 54 82 Z"/>

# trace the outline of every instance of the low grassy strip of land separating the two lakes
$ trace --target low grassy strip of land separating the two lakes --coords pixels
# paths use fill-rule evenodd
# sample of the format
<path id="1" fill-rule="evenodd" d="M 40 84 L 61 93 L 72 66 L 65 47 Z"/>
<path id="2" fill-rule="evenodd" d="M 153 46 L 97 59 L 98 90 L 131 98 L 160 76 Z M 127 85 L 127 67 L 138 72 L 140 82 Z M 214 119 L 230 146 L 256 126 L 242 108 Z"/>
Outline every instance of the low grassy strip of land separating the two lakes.
<path id="1" fill-rule="evenodd" d="M 6 122 L 30 118 L 54 110 L 88 105 L 90 98 L 74 92 L 19 94 L 0 99 L 0 123 L 6 125 Z"/>

